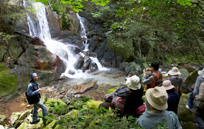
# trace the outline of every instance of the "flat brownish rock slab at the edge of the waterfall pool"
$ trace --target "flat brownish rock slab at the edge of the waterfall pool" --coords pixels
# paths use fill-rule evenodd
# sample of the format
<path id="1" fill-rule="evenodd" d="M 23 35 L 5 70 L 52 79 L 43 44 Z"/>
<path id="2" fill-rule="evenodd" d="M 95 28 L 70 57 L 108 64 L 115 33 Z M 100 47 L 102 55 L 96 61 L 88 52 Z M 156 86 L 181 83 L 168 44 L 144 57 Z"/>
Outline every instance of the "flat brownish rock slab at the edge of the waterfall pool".
<path id="1" fill-rule="evenodd" d="M 96 82 L 73 86 L 70 89 L 68 89 L 67 96 L 70 96 L 72 94 L 81 94 L 87 90 L 90 90 L 91 88 L 96 88 L 96 87 L 97 87 Z"/>

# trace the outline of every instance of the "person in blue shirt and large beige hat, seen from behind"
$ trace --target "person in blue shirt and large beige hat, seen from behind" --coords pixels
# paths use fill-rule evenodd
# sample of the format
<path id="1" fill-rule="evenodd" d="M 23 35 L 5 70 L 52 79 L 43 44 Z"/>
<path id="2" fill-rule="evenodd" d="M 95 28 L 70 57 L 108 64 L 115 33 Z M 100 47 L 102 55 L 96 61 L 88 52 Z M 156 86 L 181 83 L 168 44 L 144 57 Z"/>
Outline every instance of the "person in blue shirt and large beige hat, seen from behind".
<path id="1" fill-rule="evenodd" d="M 145 129 L 157 129 L 163 126 L 168 129 L 182 129 L 177 115 L 167 111 L 168 94 L 165 88 L 150 88 L 145 94 L 146 110 L 136 121 L 136 125 Z"/>

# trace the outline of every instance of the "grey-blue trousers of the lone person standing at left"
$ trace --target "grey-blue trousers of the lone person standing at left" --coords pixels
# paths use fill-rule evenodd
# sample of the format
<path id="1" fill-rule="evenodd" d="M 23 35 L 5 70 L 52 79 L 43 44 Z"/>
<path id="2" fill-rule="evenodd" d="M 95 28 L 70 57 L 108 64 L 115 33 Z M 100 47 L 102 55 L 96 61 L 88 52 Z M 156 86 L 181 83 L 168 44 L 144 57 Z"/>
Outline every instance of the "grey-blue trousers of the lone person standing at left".
<path id="1" fill-rule="evenodd" d="M 42 104 L 41 102 L 35 103 L 33 104 L 33 121 L 36 121 L 38 119 L 38 108 L 42 109 L 42 113 L 43 113 L 43 123 L 46 124 L 47 119 L 45 119 L 45 116 L 48 115 L 47 112 L 47 107 Z"/>

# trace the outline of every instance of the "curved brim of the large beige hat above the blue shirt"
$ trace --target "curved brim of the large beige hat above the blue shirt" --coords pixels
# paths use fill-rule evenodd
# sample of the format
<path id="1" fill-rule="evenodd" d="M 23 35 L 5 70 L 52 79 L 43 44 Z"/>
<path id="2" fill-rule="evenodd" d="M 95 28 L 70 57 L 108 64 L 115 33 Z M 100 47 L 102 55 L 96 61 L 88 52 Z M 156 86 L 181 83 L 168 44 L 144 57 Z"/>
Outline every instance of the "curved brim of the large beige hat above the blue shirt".
<path id="1" fill-rule="evenodd" d="M 151 98 L 151 96 L 150 96 L 152 90 L 153 90 L 153 88 L 150 88 L 150 89 L 148 89 L 148 90 L 146 91 L 145 97 L 146 97 L 148 103 L 149 103 L 152 107 L 156 108 L 157 110 L 166 110 L 166 109 L 168 108 L 168 104 L 167 104 L 167 103 L 164 104 L 164 105 L 157 105 L 157 104 L 154 103 L 154 101 L 152 100 L 152 98 Z"/>

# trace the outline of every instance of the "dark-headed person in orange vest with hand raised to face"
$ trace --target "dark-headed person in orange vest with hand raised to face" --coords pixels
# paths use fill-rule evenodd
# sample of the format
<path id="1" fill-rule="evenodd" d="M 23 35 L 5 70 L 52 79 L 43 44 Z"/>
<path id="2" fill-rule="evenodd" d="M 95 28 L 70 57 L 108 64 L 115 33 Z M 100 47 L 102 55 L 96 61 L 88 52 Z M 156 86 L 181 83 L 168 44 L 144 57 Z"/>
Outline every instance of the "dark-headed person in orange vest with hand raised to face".
<path id="1" fill-rule="evenodd" d="M 158 71 L 159 69 L 159 63 L 158 62 L 152 62 L 150 68 L 147 69 L 147 71 L 151 71 L 152 75 L 147 78 L 147 71 L 143 69 L 143 78 L 142 83 L 147 85 L 146 90 L 149 88 L 154 88 L 155 86 L 158 86 L 157 83 L 162 80 L 163 75 Z"/>

